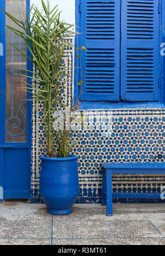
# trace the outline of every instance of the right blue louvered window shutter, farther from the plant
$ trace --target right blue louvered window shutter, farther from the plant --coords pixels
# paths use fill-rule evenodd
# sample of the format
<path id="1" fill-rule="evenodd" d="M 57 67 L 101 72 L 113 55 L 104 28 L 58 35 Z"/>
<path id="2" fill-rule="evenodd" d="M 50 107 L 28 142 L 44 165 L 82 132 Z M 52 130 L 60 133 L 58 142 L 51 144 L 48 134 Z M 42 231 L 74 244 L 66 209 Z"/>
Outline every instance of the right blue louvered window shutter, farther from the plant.
<path id="1" fill-rule="evenodd" d="M 122 100 L 159 99 L 158 3 L 158 0 L 122 0 Z"/>

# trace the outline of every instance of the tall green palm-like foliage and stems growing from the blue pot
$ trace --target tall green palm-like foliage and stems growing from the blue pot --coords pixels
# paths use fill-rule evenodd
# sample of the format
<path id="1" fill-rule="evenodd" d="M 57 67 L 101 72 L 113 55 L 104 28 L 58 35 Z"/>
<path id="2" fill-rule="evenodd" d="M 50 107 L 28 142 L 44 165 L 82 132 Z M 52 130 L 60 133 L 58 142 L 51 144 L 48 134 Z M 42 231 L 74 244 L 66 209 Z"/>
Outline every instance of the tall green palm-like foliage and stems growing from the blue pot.
<path id="1" fill-rule="evenodd" d="M 57 6 L 51 10 L 49 1 L 47 1 L 47 6 L 43 0 L 41 2 L 44 10 L 43 13 L 37 7 L 32 6 L 27 17 L 23 18 L 20 13 L 20 20 L 4 12 L 4 10 L 3 12 L 19 27 L 19 29 L 15 29 L 7 25 L 7 28 L 20 36 L 31 52 L 30 57 L 13 45 L 21 54 L 29 58 L 35 66 L 35 71 L 26 70 L 26 72 L 31 73 L 31 76 L 25 75 L 25 77 L 35 79 L 35 85 L 32 86 L 30 83 L 26 83 L 24 89 L 27 89 L 32 94 L 31 100 L 36 102 L 36 106 L 38 102 L 43 103 L 43 123 L 47 140 L 47 156 L 68 157 L 71 149 L 68 146 L 69 130 L 67 130 L 67 125 L 64 125 L 63 131 L 54 130 L 53 111 L 56 111 L 59 106 L 63 109 L 66 107 L 62 104 L 62 90 L 68 79 L 68 74 L 67 68 L 62 65 L 62 60 L 64 50 L 70 46 L 67 36 L 73 35 L 73 32 L 70 31 L 73 25 L 60 21 L 60 13 Z M 80 53 L 81 50 L 86 49 L 85 47 L 78 49 Z M 80 57 L 80 54 L 78 57 Z M 82 87 L 82 83 L 80 81 L 78 84 Z M 81 89 L 82 92 L 83 90 Z M 79 98 L 75 104 L 72 101 L 70 111 L 74 112 L 78 108 Z M 74 117 L 72 116 L 70 123 L 73 119 Z M 58 151 L 55 155 L 53 153 L 56 141 L 54 137 L 58 141 Z"/>

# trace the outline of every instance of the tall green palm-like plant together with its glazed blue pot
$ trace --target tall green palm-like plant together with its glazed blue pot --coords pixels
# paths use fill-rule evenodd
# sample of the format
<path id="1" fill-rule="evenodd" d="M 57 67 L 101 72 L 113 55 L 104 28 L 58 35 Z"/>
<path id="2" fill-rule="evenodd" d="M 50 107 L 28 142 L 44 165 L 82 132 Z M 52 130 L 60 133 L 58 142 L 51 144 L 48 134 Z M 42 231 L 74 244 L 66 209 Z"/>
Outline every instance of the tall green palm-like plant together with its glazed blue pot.
<path id="1" fill-rule="evenodd" d="M 70 29 L 73 25 L 60 20 L 57 6 L 52 10 L 41 0 L 43 12 L 32 6 L 26 18 L 20 13 L 17 19 L 5 12 L 5 14 L 17 24 L 18 29 L 7 26 L 13 33 L 24 40 L 31 56 L 17 49 L 21 54 L 31 60 L 35 71 L 26 70 L 25 77 L 35 80 L 35 84 L 26 83 L 26 89 L 32 95 L 37 106 L 43 104 L 43 124 L 45 127 L 47 152 L 41 157 L 40 195 L 48 206 L 51 214 L 62 215 L 72 212 L 72 206 L 79 194 L 79 177 L 77 156 L 70 156 L 72 145 L 69 141 L 68 126 L 75 118 L 75 111 L 79 109 L 79 98 L 70 106 L 63 103 L 63 89 L 68 79 L 67 67 L 62 64 L 65 49 L 70 47 L 67 36 L 73 35 Z M 18 7 L 19 8 L 19 7 Z M 77 58 L 85 47 L 76 49 Z M 81 61 L 80 61 L 81 62 Z M 29 76 L 28 74 L 31 73 Z M 82 72 L 81 72 L 82 74 Z M 77 83 L 81 86 L 80 94 L 83 93 L 82 79 Z M 66 109 L 69 108 L 69 118 Z M 56 129 L 57 117 L 54 113 L 59 111 L 63 114 L 63 129 Z M 69 120 L 69 121 L 68 121 Z M 57 147 L 56 147 L 57 146 Z"/>

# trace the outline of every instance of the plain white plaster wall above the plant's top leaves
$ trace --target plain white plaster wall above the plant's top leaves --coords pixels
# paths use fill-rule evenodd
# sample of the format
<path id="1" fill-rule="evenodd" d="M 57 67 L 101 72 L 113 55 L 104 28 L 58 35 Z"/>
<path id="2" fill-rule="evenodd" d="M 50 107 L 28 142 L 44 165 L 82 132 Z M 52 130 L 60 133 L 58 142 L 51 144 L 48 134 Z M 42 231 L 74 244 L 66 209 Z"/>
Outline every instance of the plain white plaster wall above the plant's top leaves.
<path id="1" fill-rule="evenodd" d="M 44 0 L 47 3 L 47 0 Z M 41 0 L 31 0 L 30 4 L 35 4 L 38 9 L 42 10 Z M 59 10 L 62 11 L 61 19 L 70 24 L 75 24 L 75 0 L 50 0 L 51 8 L 58 4 Z"/>

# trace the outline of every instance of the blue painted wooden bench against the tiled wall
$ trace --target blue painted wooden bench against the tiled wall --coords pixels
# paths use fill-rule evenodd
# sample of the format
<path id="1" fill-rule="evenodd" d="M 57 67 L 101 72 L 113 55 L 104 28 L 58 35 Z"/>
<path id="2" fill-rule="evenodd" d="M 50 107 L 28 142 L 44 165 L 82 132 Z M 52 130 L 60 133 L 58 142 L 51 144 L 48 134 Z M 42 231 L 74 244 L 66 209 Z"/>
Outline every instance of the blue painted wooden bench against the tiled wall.
<path id="1" fill-rule="evenodd" d="M 165 174 L 165 163 L 103 163 L 102 205 L 107 205 L 107 216 L 112 216 L 112 173 Z M 122 193 L 121 193 L 122 194 Z M 125 197 L 127 198 L 125 193 Z M 141 193 L 145 198 L 147 193 Z M 135 195 L 135 193 L 134 193 Z M 137 195 L 137 194 L 136 194 Z"/>

